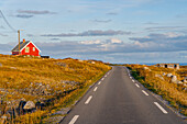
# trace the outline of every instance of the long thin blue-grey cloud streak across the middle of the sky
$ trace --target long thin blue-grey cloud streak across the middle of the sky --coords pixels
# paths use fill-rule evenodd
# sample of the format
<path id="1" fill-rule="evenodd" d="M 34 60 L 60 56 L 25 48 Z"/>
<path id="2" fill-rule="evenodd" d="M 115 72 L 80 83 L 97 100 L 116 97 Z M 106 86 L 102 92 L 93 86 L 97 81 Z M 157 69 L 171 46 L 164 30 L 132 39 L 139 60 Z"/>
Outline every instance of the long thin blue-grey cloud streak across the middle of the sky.
<path id="1" fill-rule="evenodd" d="M 114 36 L 114 35 L 128 35 L 131 34 L 131 32 L 124 32 L 124 31 L 101 31 L 101 30 L 89 30 L 82 33 L 62 33 L 62 34 L 43 34 L 41 36 L 50 36 L 50 37 L 73 37 L 73 36 Z"/>

